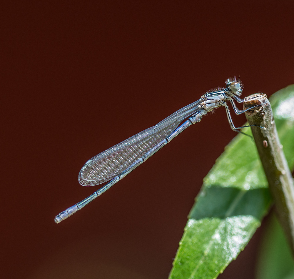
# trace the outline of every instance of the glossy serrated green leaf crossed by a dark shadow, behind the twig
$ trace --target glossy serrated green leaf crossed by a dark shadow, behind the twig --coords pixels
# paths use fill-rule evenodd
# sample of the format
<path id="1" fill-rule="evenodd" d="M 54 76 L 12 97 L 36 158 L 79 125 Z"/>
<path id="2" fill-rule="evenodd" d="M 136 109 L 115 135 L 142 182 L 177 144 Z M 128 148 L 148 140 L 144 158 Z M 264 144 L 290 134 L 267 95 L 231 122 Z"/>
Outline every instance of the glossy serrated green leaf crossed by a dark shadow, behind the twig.
<path id="1" fill-rule="evenodd" d="M 276 92 L 270 102 L 292 169 L 294 85 Z M 251 134 L 249 128 L 243 131 Z M 238 134 L 203 180 L 169 278 L 216 278 L 245 248 L 271 202 L 255 144 Z"/>

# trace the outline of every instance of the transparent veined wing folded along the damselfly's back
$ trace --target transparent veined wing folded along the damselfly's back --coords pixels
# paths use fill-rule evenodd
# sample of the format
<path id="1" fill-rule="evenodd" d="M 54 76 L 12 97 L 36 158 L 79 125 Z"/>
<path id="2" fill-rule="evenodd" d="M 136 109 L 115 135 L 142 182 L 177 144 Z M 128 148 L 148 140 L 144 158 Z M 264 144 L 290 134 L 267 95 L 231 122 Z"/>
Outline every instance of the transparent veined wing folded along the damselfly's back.
<path id="1" fill-rule="evenodd" d="M 114 145 L 86 162 L 79 173 L 81 185 L 93 186 L 113 179 L 166 139 L 186 118 L 198 110 L 202 99 L 179 109 L 153 127 Z"/>

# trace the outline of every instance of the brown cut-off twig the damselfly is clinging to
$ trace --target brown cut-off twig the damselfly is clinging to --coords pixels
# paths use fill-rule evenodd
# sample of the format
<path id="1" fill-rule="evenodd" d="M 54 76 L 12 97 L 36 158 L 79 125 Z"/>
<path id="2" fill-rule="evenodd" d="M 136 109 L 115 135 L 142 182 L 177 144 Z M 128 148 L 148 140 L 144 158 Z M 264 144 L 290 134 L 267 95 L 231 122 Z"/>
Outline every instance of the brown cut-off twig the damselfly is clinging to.
<path id="1" fill-rule="evenodd" d="M 255 144 L 275 201 L 275 211 L 290 243 L 294 257 L 294 184 L 280 144 L 273 112 L 265 94 L 253 94 L 243 108 L 251 127 Z M 257 107 L 255 107 L 257 106 Z M 261 128 L 264 127 L 264 128 Z"/>

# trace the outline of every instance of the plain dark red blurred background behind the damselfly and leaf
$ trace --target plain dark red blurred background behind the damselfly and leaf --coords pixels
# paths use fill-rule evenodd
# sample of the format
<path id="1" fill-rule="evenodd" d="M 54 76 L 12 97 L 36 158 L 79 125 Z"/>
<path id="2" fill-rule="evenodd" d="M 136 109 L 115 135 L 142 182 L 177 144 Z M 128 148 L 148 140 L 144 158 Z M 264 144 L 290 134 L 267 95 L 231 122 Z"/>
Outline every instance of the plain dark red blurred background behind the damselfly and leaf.
<path id="1" fill-rule="evenodd" d="M 59 225 L 92 156 L 228 77 L 293 83 L 293 1 L 24 1 L 2 10 L 2 278 L 167 278 L 236 135 L 220 108 Z M 245 117 L 235 116 L 236 125 Z M 260 232 L 219 278 L 253 278 Z"/>

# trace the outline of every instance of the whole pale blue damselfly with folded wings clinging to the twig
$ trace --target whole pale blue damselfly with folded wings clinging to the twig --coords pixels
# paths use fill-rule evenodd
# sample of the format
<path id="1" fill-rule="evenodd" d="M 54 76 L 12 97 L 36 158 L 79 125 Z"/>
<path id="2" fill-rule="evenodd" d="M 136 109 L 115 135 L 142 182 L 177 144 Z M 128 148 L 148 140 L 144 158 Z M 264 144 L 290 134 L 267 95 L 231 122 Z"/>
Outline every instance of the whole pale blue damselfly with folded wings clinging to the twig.
<path id="1" fill-rule="evenodd" d="M 225 88 L 210 90 L 196 102 L 179 109 L 155 126 L 114 145 L 88 160 L 78 176 L 78 181 L 81 185 L 94 186 L 110 181 L 86 199 L 59 213 L 55 217 L 55 222 L 59 223 L 65 220 L 96 197 L 103 194 L 116 182 L 128 175 L 132 170 L 170 142 L 174 137 L 183 132 L 183 130 L 199 122 L 203 115 L 211 112 L 217 107 L 225 107 L 230 127 L 233 130 L 240 132 L 238 129 L 248 127 L 234 126 L 227 104 L 227 102 L 232 104 L 235 114 L 241 114 L 249 110 L 239 110 L 234 102 L 243 103 L 249 100 L 239 98 L 242 94 L 241 81 L 234 77 L 233 79 L 227 79 L 225 84 Z M 179 126 L 185 119 L 187 120 Z"/>

